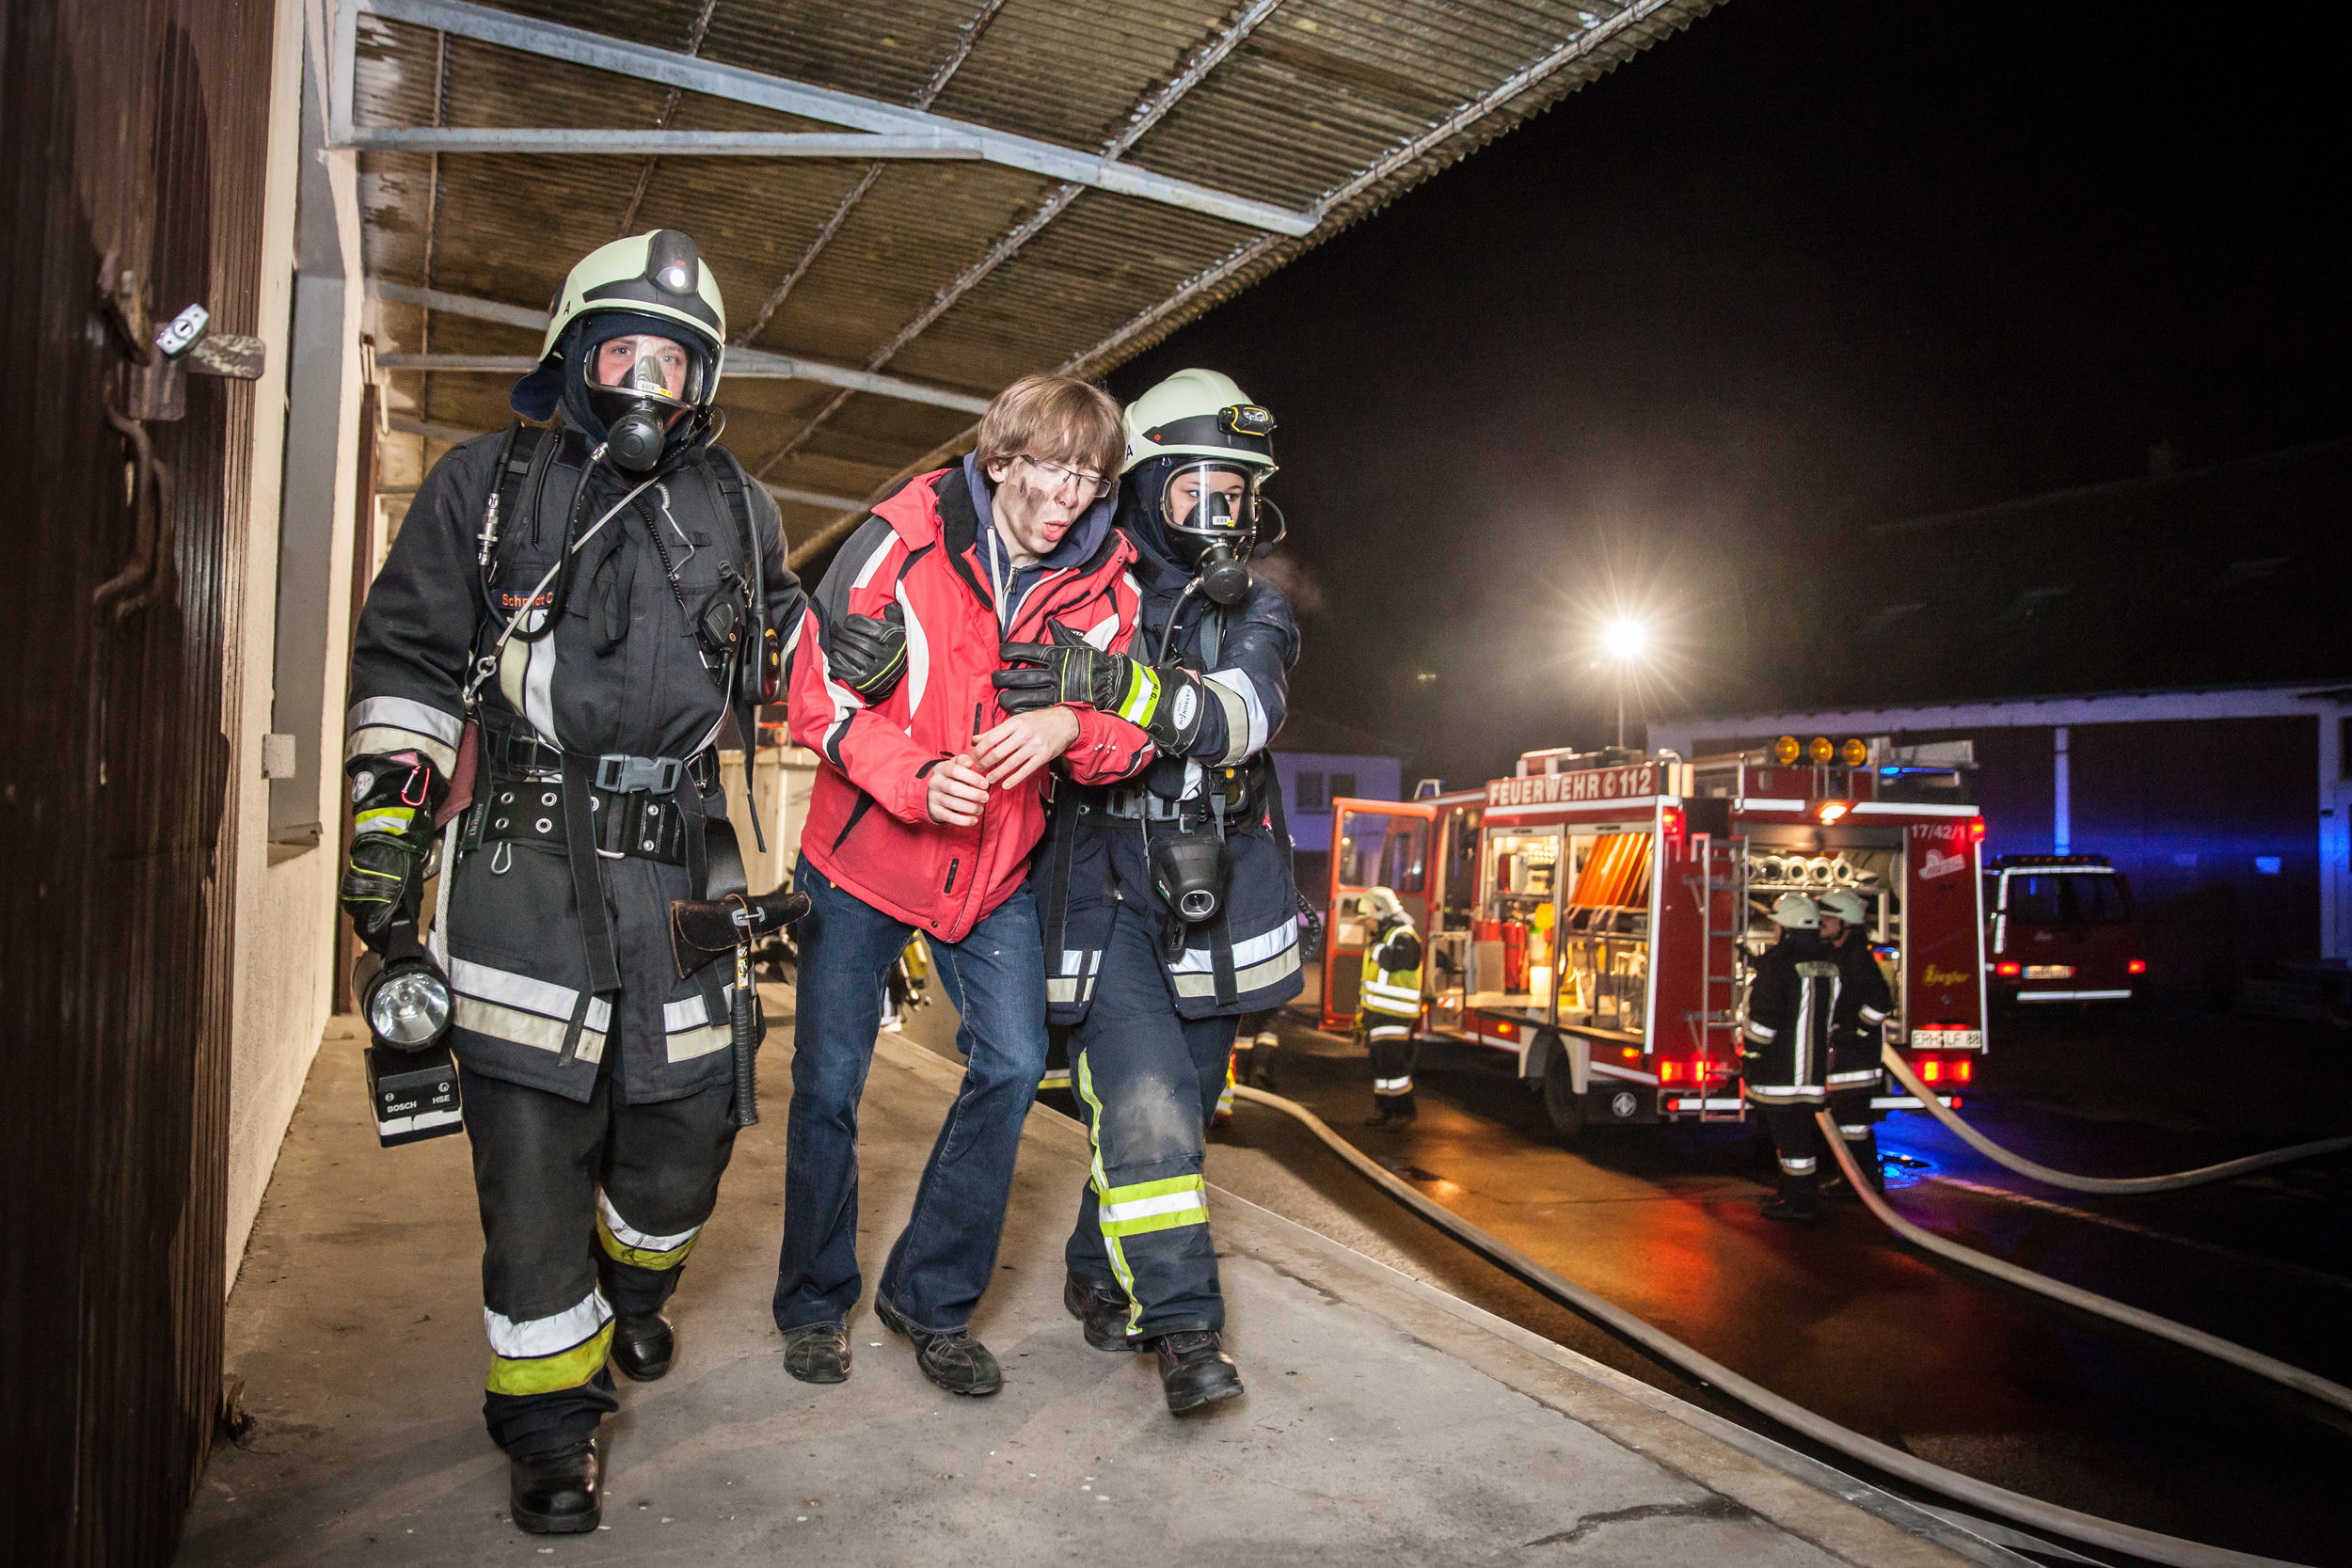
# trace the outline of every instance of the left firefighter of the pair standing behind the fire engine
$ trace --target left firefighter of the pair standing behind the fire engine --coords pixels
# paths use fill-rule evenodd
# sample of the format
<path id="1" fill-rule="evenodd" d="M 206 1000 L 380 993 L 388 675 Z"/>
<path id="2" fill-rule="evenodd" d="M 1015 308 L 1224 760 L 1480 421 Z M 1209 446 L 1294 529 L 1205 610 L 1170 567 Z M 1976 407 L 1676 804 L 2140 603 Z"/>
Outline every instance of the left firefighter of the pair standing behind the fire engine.
<path id="1" fill-rule="evenodd" d="M 1764 1215 L 1811 1220 L 1820 1192 L 1813 1112 L 1830 1103 L 1839 966 L 1820 940 L 1820 905 L 1811 898 L 1783 893 L 1771 919 L 1780 936 L 1757 957 L 1748 980 L 1740 1079 L 1780 1161 L 1780 1190 L 1764 1201 Z"/>

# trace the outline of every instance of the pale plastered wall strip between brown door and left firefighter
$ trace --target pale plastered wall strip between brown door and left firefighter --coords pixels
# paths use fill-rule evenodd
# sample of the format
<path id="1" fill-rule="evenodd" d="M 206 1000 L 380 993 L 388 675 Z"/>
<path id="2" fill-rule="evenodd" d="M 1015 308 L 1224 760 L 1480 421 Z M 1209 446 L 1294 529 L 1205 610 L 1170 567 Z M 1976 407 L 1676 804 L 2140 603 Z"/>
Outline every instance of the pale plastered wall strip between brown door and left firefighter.
<path id="1" fill-rule="evenodd" d="M 280 644 L 280 538 L 285 557 L 301 559 L 303 583 L 325 578 L 341 585 L 329 611 L 348 595 L 350 517 L 353 517 L 353 442 L 358 435 L 358 287 L 341 289 L 341 327 L 306 331 L 306 357 L 292 362 L 294 289 L 296 289 L 296 205 L 313 266 L 306 308 L 320 299 L 320 223 L 327 254 L 336 256 L 343 280 L 360 277 L 360 214 L 348 153 L 320 155 L 322 118 L 306 125 L 303 80 L 325 66 L 325 31 L 308 28 L 306 14 L 322 14 L 306 0 L 278 5 L 278 73 L 273 85 L 270 186 L 266 212 L 263 263 L 263 339 L 268 374 L 254 386 L 254 444 L 247 454 L 252 510 L 247 512 L 245 583 L 235 611 L 235 656 L 230 679 L 240 684 L 235 710 L 240 733 L 230 736 L 235 766 L 245 771 L 238 790 L 235 823 L 228 825 L 238 856 L 235 903 L 235 980 L 233 1044 L 228 1084 L 228 1284 L 235 1286 L 245 1239 L 261 1208 L 261 1192 L 278 1164 L 294 1103 L 318 1051 L 327 1023 L 334 964 L 334 832 L 315 844 L 273 844 L 270 799 L 285 780 L 263 785 L 261 738 L 278 729 L 308 743 L 308 788 L 315 792 L 313 823 L 341 820 L 343 665 L 348 663 L 348 628 L 341 614 L 289 616 L 289 637 Z M 315 322 L 313 322 L 315 324 Z M 310 355 L 325 341 L 336 364 L 318 364 Z M 289 381 L 292 371 L 292 381 Z M 303 407 L 287 418 L 289 386 L 299 386 Z M 322 407 L 327 402 L 329 407 Z M 287 442 L 294 442 L 292 449 Z M 320 447 L 325 442 L 325 447 Z M 320 482 L 325 477 L 325 482 Z M 308 588 L 303 588 L 308 592 Z M 315 611 L 315 604 L 296 604 Z M 275 682 L 289 668 L 287 656 L 306 658 L 313 679 L 299 682 L 301 701 L 289 708 L 275 701 Z"/>

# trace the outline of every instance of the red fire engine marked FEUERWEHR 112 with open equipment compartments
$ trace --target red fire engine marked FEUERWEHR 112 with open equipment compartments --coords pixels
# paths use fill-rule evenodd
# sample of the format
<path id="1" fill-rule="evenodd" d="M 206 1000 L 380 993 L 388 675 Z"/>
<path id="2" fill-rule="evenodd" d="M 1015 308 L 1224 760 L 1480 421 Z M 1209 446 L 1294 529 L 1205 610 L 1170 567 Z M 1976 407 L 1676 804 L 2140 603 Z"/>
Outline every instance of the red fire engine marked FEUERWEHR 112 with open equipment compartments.
<path id="1" fill-rule="evenodd" d="M 1331 802 L 1322 1025 L 1355 1018 L 1355 898 L 1388 886 L 1425 940 L 1421 1037 L 1512 1053 L 1562 1140 L 1740 1121 L 1740 1025 L 1771 903 L 1851 889 L 1896 997 L 1889 1039 L 1957 1091 L 1987 1013 L 1973 776 L 1964 748 L 1783 736 L 1691 762 L 1526 752 L 1484 790 Z"/>

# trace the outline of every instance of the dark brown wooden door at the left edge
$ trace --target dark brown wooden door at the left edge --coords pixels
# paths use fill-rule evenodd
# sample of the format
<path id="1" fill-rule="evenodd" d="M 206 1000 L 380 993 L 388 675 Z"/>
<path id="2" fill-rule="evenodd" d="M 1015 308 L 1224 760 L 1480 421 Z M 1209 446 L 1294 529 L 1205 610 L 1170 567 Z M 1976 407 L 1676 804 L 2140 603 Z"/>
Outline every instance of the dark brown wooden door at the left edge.
<path id="1" fill-rule="evenodd" d="M 122 364 L 141 310 L 261 329 L 273 38 L 261 0 L 0 7 L 0 1554 L 21 1563 L 167 1563 L 221 1394 L 254 390 L 188 376 L 179 418 L 125 418 L 148 404 Z"/>

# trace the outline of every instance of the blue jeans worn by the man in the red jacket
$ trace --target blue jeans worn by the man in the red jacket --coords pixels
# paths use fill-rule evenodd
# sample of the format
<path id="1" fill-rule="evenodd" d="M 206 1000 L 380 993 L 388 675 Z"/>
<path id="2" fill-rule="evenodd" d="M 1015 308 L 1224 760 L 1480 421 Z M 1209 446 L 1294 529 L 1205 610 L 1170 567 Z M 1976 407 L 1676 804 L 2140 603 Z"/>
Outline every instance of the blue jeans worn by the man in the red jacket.
<path id="1" fill-rule="evenodd" d="M 793 886 L 800 994 L 793 1110 L 783 1143 L 783 1255 L 776 1328 L 847 1324 L 858 1305 L 858 1095 L 882 1027 L 882 985 L 913 926 L 847 893 L 807 858 Z M 1044 945 L 1028 886 L 960 943 L 929 938 L 969 1058 L 915 1190 L 915 1211 L 882 1269 L 880 1300 L 924 1333 L 955 1333 L 997 1267 L 1021 1121 L 1044 1077 Z"/>

